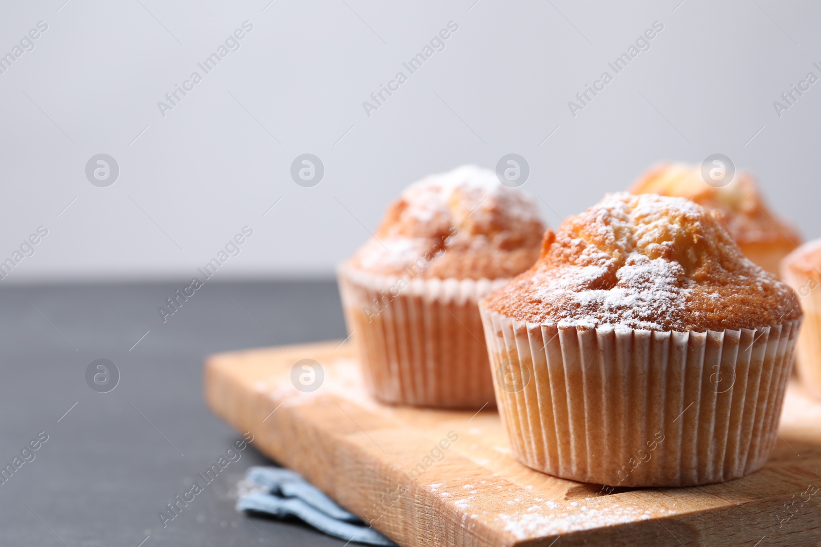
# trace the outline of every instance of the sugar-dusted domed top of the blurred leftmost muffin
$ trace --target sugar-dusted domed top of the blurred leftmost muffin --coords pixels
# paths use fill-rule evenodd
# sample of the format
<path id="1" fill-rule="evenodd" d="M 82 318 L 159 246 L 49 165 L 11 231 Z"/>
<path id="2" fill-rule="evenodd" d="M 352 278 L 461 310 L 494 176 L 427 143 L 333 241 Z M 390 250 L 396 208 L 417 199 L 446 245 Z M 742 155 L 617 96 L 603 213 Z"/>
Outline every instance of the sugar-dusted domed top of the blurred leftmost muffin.
<path id="1" fill-rule="evenodd" d="M 532 199 L 493 171 L 461 166 L 408 186 L 348 265 L 385 276 L 507 278 L 539 258 L 543 233 Z"/>

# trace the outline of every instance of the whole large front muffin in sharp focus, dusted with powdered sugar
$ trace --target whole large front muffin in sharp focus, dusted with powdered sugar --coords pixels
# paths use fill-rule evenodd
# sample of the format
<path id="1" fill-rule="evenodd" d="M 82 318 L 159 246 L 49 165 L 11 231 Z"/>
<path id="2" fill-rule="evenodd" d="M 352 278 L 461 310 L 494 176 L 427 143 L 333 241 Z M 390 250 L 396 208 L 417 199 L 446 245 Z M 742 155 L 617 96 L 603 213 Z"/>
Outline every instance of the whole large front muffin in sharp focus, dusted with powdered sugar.
<path id="1" fill-rule="evenodd" d="M 721 482 L 776 439 L 801 312 L 718 212 L 611 194 L 479 303 L 522 463 L 612 486 Z"/>

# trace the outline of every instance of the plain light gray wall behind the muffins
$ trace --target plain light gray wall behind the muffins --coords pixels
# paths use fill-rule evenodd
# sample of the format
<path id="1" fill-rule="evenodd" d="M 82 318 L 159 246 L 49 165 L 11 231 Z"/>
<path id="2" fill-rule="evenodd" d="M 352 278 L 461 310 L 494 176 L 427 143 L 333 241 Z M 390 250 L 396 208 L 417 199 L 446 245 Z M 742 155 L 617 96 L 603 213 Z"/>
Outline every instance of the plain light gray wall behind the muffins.
<path id="1" fill-rule="evenodd" d="M 0 52 L 37 21 L 48 31 L 0 75 L 0 256 L 49 235 L 3 282 L 188 277 L 245 225 L 255 236 L 222 278 L 330 276 L 401 188 L 507 153 L 530 162 L 524 189 L 553 226 L 654 162 L 725 153 L 819 235 L 821 84 L 773 108 L 821 75 L 818 4 L 680 1 L 6 2 Z M 158 101 L 243 21 L 241 48 L 163 118 Z M 446 48 L 366 116 L 448 21 Z M 571 116 L 654 21 L 649 51 Z M 111 187 L 85 179 L 97 153 L 120 165 Z M 290 178 L 301 153 L 325 165 L 314 188 Z"/>

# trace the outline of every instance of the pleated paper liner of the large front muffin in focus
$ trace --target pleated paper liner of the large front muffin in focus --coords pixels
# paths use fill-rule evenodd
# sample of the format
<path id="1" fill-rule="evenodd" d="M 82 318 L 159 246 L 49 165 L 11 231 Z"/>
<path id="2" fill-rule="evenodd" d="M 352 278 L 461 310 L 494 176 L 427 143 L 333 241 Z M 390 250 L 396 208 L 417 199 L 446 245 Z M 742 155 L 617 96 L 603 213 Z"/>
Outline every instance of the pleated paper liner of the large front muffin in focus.
<path id="1" fill-rule="evenodd" d="M 522 463 L 574 481 L 685 486 L 764 466 L 801 320 L 755 330 L 541 326 L 482 310 Z"/>

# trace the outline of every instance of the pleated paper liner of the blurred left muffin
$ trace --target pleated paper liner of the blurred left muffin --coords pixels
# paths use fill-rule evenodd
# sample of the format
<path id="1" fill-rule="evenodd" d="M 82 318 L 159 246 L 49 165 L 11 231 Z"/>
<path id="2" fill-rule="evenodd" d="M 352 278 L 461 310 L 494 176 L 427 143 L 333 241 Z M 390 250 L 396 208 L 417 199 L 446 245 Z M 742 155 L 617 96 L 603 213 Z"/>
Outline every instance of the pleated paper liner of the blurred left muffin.
<path id="1" fill-rule="evenodd" d="M 507 280 L 374 276 L 337 269 L 365 384 L 385 403 L 495 404 L 478 301 Z"/>

